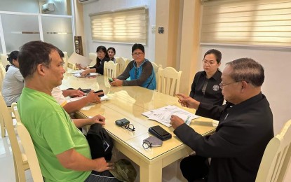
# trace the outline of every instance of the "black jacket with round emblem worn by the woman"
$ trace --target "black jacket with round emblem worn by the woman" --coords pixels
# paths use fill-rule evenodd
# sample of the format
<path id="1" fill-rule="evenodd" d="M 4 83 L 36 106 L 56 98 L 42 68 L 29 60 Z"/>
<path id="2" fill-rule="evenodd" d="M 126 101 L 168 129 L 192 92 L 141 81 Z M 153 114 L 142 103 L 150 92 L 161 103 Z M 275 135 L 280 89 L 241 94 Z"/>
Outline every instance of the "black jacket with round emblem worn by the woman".
<path id="1" fill-rule="evenodd" d="M 206 72 L 199 71 L 196 73 L 191 85 L 190 97 L 198 102 L 209 103 L 221 106 L 224 98 L 219 83 L 222 81 L 222 72 L 217 70 L 216 73 L 208 79 L 205 94 L 202 92 L 202 87 L 206 79 Z"/>

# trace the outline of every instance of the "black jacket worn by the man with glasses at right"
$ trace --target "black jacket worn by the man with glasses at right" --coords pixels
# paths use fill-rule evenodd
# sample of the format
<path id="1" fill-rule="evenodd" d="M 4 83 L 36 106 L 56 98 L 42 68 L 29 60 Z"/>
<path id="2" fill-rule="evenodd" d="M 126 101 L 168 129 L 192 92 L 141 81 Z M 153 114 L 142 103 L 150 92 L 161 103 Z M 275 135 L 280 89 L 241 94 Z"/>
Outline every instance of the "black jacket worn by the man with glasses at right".
<path id="1" fill-rule="evenodd" d="M 219 120 L 214 134 L 202 137 L 186 124 L 174 133 L 197 155 L 212 158 L 208 181 L 255 181 L 266 145 L 273 138 L 273 115 L 264 94 L 237 105 L 201 103 L 196 114 Z"/>

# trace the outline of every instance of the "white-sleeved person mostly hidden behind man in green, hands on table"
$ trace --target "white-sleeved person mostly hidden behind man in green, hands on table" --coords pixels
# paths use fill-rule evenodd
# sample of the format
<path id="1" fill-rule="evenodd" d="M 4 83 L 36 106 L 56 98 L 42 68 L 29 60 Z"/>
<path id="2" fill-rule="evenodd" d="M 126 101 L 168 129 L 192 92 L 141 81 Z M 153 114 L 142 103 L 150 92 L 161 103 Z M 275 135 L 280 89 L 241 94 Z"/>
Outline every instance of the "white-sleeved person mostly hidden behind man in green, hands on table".
<path id="1" fill-rule="evenodd" d="M 57 52 L 59 53 L 60 57 L 63 59 L 65 57 L 64 52 L 62 50 L 57 48 Z M 52 96 L 55 97 L 55 100 L 58 104 L 60 104 L 67 113 L 74 113 L 76 111 L 79 111 L 84 106 L 91 104 L 91 103 L 100 103 L 100 94 L 103 94 L 103 92 L 99 93 L 93 93 L 94 90 L 91 90 L 86 97 L 83 97 L 85 94 L 81 90 L 76 89 L 69 89 L 69 90 L 60 90 L 60 87 L 54 87 L 52 90 Z M 76 101 L 67 102 L 65 97 L 83 97 L 81 99 L 78 99 Z"/>

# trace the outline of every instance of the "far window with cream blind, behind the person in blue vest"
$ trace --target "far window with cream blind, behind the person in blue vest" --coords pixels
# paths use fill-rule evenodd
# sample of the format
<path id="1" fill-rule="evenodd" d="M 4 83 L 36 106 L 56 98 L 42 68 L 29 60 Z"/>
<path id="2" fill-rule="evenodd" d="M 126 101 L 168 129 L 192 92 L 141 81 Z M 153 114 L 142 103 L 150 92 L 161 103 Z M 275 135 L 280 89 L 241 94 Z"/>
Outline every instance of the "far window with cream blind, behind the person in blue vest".
<path id="1" fill-rule="evenodd" d="M 147 42 L 147 9 L 133 8 L 90 15 L 93 41 Z"/>

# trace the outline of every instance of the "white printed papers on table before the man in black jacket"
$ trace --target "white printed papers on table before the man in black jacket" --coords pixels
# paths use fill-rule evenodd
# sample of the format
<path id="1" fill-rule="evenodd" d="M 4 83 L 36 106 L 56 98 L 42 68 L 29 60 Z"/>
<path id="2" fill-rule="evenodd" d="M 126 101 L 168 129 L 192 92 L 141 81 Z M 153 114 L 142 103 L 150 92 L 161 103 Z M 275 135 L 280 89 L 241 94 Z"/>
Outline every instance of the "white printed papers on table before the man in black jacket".
<path id="1" fill-rule="evenodd" d="M 172 115 L 179 116 L 187 125 L 190 125 L 191 120 L 199 118 L 193 113 L 180 109 L 177 106 L 165 106 L 159 109 L 154 109 L 142 113 L 142 115 L 147 116 L 149 120 L 156 120 L 167 127 L 170 127 L 170 118 Z"/>

